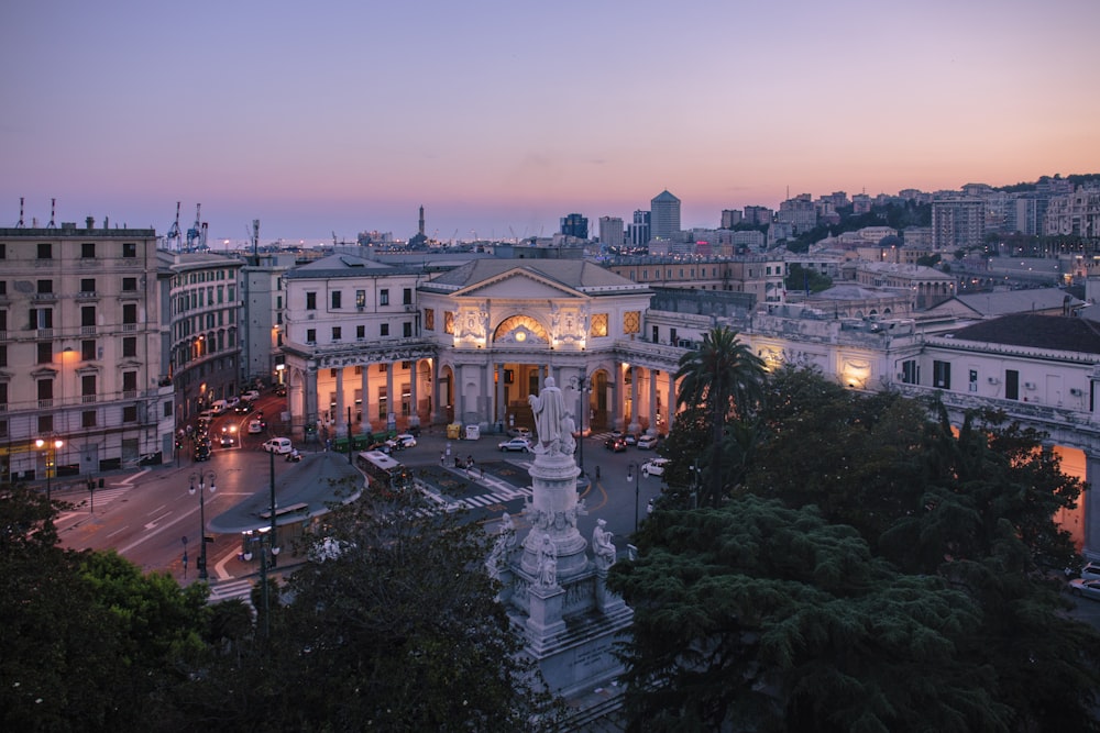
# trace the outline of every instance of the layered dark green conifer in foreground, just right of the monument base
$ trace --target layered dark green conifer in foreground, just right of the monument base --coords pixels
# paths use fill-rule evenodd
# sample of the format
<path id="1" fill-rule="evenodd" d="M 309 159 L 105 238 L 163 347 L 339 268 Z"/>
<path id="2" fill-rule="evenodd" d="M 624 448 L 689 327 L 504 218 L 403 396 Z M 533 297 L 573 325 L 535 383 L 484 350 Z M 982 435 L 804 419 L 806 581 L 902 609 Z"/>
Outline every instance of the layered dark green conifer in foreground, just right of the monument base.
<path id="1" fill-rule="evenodd" d="M 659 511 L 612 587 L 635 609 L 630 730 L 1007 730 L 990 669 L 956 658 L 980 617 L 851 527 L 757 497 Z"/>

